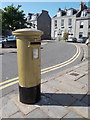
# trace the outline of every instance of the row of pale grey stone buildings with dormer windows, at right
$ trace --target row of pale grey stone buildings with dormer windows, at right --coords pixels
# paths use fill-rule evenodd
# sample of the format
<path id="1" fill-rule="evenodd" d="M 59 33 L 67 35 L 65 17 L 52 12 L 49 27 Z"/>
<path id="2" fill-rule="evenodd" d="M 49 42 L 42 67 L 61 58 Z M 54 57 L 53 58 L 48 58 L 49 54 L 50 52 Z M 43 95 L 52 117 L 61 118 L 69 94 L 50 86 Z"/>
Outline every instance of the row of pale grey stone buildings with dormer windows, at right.
<path id="1" fill-rule="evenodd" d="M 62 39 L 65 31 L 68 38 L 90 37 L 90 7 L 81 2 L 78 10 L 59 8 L 57 15 L 52 18 L 52 39 Z"/>

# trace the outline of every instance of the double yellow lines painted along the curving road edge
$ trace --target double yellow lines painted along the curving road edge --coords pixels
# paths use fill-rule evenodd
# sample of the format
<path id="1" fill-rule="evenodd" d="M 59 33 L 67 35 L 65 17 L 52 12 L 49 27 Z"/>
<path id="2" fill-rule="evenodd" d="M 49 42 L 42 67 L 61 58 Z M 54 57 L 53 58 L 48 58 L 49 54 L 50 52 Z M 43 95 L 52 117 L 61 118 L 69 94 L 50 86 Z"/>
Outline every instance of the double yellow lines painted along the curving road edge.
<path id="1" fill-rule="evenodd" d="M 76 46 L 76 45 L 75 45 L 75 46 Z M 45 73 L 47 73 L 47 72 L 51 72 L 51 71 L 53 71 L 53 70 L 62 68 L 62 67 L 64 67 L 64 66 L 66 66 L 66 65 L 74 62 L 74 61 L 78 58 L 78 56 L 80 55 L 80 47 L 76 46 L 76 48 L 77 48 L 77 52 L 76 52 L 76 54 L 75 54 L 72 58 L 70 58 L 69 60 L 67 60 L 67 61 L 65 61 L 65 62 L 63 62 L 63 63 L 60 63 L 60 64 L 57 64 L 57 65 L 54 65 L 54 66 L 51 66 L 51 67 L 42 69 L 42 70 L 41 70 L 41 74 L 45 74 Z M 16 77 L 16 78 L 13 78 L 13 79 L 10 79 L 10 80 L 1 82 L 1 83 L 0 83 L 0 90 L 2 90 L 2 89 L 4 89 L 4 88 L 6 88 L 6 87 L 9 87 L 9 86 L 11 86 L 11 85 L 14 85 L 14 84 L 18 83 L 18 82 L 19 82 L 18 79 L 19 79 L 19 78 Z"/>

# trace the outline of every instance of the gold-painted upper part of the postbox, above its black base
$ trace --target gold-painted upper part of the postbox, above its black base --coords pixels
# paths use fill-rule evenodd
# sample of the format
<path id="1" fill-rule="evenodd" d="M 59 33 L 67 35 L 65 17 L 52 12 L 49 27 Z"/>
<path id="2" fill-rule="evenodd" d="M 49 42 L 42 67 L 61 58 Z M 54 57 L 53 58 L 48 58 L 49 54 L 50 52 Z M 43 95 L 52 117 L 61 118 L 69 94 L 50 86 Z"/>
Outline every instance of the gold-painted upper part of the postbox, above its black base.
<path id="1" fill-rule="evenodd" d="M 19 85 L 34 87 L 41 83 L 40 44 L 30 44 L 40 41 L 41 31 L 14 31 L 17 36 L 17 60 Z M 33 59 L 33 49 L 39 49 L 38 59 Z"/>

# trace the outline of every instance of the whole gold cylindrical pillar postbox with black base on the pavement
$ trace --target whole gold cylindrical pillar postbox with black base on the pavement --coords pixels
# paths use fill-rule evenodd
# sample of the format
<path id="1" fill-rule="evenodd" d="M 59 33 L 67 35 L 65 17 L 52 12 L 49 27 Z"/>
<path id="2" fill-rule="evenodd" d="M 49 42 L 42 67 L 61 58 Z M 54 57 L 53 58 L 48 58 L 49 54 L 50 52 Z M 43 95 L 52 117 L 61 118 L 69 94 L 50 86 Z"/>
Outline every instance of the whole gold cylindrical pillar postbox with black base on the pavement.
<path id="1" fill-rule="evenodd" d="M 26 28 L 13 34 L 17 38 L 20 102 L 34 104 L 41 98 L 40 36 L 43 32 Z"/>

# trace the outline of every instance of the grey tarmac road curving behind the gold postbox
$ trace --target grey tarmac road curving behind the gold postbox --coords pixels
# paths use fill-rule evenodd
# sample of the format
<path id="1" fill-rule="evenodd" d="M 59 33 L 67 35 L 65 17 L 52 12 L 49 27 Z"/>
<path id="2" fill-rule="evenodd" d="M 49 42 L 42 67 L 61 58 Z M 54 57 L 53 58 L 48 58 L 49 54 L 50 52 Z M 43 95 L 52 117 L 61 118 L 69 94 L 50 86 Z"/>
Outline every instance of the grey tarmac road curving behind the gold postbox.
<path id="1" fill-rule="evenodd" d="M 13 51 L 13 49 L 8 51 L 4 51 L 4 53 L 0 55 L 0 57 L 2 57 L 2 82 L 18 76 L 17 53 L 15 50 Z M 76 53 L 77 47 L 74 44 L 66 42 L 48 42 L 47 44 L 43 44 L 41 49 L 42 78 L 51 77 L 60 71 L 80 63 L 82 51 L 80 50 L 79 55 Z M 75 54 L 76 59 L 71 59 Z M 69 59 L 71 60 L 68 62 Z"/>

